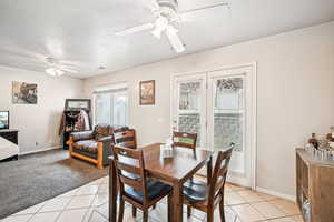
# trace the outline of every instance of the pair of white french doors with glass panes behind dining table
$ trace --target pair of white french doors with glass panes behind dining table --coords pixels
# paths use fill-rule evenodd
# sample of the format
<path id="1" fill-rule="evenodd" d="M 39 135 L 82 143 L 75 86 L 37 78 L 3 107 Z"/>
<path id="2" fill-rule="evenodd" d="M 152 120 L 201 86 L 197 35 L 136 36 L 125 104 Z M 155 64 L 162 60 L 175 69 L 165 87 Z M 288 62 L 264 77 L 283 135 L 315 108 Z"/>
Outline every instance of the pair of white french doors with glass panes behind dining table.
<path id="1" fill-rule="evenodd" d="M 198 149 L 219 151 L 235 143 L 228 181 L 249 188 L 255 176 L 252 75 L 252 65 L 224 69 L 176 75 L 173 85 L 173 130 L 198 133 Z"/>

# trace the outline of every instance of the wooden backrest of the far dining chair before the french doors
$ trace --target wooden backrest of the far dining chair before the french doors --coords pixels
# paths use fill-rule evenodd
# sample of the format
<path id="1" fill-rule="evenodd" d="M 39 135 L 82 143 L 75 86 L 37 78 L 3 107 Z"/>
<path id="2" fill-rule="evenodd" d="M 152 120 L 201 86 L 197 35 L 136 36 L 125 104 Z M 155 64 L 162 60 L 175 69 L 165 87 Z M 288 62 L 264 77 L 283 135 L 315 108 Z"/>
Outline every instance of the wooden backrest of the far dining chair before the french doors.
<path id="1" fill-rule="evenodd" d="M 197 133 L 173 132 L 173 144 L 175 147 L 191 149 L 196 154 Z"/>

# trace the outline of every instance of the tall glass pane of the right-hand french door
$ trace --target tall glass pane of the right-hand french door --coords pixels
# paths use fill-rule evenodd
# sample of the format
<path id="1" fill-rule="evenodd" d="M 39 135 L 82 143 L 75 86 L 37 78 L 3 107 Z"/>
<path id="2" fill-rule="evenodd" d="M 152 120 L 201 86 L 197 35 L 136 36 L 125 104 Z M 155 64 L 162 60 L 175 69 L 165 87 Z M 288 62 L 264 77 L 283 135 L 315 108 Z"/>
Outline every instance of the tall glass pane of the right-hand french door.
<path id="1" fill-rule="evenodd" d="M 235 143 L 230 170 L 245 173 L 245 81 L 244 77 L 217 78 L 214 83 L 214 149 Z"/>

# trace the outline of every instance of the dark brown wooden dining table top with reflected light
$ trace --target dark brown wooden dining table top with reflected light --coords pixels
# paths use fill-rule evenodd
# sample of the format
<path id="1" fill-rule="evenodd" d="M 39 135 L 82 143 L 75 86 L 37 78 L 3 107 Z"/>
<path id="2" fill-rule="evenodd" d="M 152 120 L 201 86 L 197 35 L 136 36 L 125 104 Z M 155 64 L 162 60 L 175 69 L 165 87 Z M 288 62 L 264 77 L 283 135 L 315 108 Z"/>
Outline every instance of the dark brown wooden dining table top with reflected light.
<path id="1" fill-rule="evenodd" d="M 151 175 L 168 181 L 185 182 L 196 173 L 212 157 L 213 152 L 197 150 L 194 157 L 193 150 L 187 148 L 174 148 L 173 158 L 160 157 L 160 144 L 154 143 L 141 148 L 144 152 L 145 170 Z"/>

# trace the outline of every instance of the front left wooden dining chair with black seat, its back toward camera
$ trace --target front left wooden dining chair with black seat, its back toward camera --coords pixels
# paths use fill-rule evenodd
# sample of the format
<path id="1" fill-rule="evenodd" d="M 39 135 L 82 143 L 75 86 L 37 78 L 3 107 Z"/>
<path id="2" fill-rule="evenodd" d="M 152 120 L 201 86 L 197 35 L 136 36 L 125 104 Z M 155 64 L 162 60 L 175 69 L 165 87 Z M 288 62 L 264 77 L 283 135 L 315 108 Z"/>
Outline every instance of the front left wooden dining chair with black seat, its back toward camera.
<path id="1" fill-rule="evenodd" d="M 118 222 L 122 222 L 125 202 L 132 205 L 132 216 L 136 216 L 137 208 L 143 211 L 143 221 L 148 221 L 148 210 L 158 201 L 167 198 L 168 212 L 171 205 L 171 186 L 158 181 L 147 179 L 141 150 L 132 150 L 115 145 L 114 162 L 119 182 L 119 215 Z M 168 213 L 168 221 L 171 218 Z"/>

